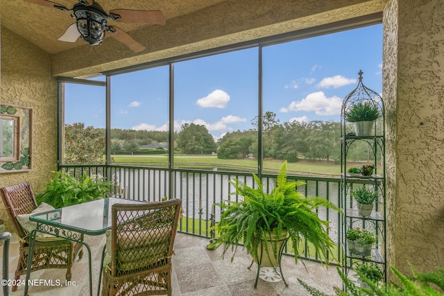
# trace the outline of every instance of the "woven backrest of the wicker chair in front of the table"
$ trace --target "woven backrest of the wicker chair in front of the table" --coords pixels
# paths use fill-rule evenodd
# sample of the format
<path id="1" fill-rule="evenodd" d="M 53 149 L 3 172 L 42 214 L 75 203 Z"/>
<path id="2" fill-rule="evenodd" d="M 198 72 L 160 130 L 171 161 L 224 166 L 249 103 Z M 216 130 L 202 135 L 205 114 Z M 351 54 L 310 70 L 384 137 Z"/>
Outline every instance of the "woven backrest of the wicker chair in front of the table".
<path id="1" fill-rule="evenodd" d="M 171 264 L 182 200 L 113 204 L 111 275 Z"/>

